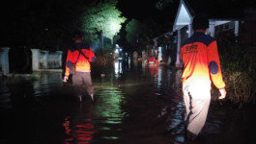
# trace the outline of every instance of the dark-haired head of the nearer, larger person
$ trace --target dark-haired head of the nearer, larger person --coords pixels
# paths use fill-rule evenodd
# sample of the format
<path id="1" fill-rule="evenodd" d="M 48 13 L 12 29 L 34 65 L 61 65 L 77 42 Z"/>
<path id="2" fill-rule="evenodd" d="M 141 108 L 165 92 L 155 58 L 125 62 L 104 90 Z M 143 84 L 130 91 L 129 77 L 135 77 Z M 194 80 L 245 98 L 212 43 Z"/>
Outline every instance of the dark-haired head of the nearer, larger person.
<path id="1" fill-rule="evenodd" d="M 207 31 L 209 28 L 209 18 L 206 14 L 199 13 L 194 16 L 192 22 L 193 31 Z"/>

